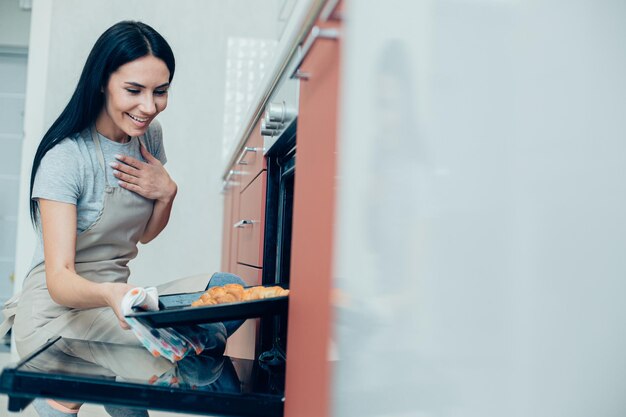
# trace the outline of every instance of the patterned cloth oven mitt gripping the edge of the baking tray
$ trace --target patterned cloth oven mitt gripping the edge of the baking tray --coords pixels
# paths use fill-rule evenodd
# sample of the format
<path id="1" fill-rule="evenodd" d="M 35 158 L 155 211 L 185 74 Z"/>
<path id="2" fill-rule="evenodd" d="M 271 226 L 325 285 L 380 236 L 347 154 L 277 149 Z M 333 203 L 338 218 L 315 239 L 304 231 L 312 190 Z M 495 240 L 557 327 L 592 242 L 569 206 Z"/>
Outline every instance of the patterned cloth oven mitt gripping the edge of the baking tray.
<path id="1" fill-rule="evenodd" d="M 136 306 L 148 311 L 158 310 L 157 289 L 137 287 L 128 291 L 122 300 L 122 314 L 127 316 L 133 313 L 133 307 Z M 153 356 L 163 356 L 170 362 L 179 361 L 191 352 L 200 354 L 210 344 L 210 340 L 197 326 L 155 329 L 132 317 L 125 317 L 125 320 L 137 339 Z"/>

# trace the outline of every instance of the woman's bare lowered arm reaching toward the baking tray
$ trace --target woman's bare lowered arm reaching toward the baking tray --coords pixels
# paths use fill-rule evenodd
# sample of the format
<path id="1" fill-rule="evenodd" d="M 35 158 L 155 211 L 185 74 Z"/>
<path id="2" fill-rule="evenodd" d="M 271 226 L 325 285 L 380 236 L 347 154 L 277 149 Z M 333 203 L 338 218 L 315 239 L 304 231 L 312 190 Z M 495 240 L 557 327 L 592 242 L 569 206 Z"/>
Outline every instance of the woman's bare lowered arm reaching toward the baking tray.
<path id="1" fill-rule="evenodd" d="M 46 284 L 54 302 L 72 308 L 109 306 L 120 320 L 120 326 L 128 328 L 120 304 L 124 294 L 133 286 L 95 283 L 76 273 L 76 206 L 40 199 L 39 209 L 46 259 Z"/>

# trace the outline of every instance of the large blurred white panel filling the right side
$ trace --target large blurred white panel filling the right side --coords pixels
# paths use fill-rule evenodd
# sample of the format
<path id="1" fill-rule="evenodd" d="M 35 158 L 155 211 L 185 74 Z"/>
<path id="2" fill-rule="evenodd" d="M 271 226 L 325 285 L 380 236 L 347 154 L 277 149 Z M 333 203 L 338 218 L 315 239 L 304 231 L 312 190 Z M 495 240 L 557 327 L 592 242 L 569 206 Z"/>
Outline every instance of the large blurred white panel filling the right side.
<path id="1" fill-rule="evenodd" d="M 625 415 L 626 3 L 346 16 L 333 415 Z"/>

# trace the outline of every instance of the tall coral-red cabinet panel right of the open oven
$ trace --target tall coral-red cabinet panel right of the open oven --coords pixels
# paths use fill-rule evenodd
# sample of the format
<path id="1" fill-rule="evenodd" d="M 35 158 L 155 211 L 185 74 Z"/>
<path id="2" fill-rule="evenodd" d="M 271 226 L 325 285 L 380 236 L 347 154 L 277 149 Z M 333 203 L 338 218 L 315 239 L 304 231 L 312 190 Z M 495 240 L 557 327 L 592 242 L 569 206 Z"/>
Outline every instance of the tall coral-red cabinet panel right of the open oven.
<path id="1" fill-rule="evenodd" d="M 340 21 L 318 19 L 320 29 Z M 306 41 L 305 41 L 306 43 Z M 318 38 L 300 72 L 285 416 L 329 413 L 330 290 L 340 39 Z M 306 375 L 306 377 L 304 377 Z"/>

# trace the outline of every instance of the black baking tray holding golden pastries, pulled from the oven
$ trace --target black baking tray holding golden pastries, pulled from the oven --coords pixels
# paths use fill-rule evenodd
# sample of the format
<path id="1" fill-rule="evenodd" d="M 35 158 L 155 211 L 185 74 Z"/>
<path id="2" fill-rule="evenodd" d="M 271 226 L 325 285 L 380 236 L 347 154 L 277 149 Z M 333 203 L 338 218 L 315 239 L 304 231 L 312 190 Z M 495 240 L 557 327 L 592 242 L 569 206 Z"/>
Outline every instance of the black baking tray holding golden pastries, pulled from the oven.
<path id="1" fill-rule="evenodd" d="M 159 297 L 158 311 L 144 311 L 139 308 L 127 317 L 133 317 L 153 327 L 175 327 L 189 324 L 203 324 L 217 321 L 239 320 L 266 315 L 287 314 L 289 296 L 264 298 L 261 300 L 240 301 L 202 307 L 191 307 L 204 291 L 162 295 Z"/>

